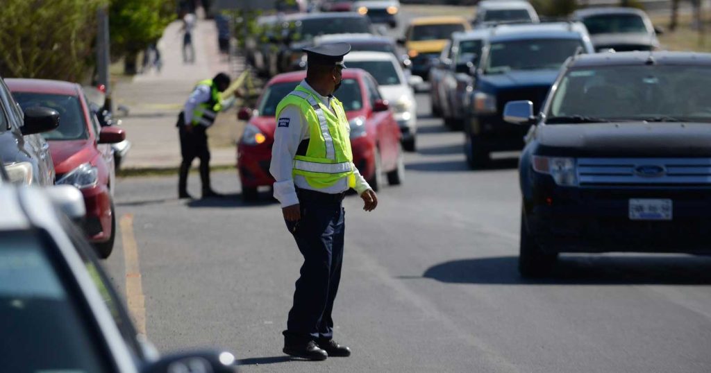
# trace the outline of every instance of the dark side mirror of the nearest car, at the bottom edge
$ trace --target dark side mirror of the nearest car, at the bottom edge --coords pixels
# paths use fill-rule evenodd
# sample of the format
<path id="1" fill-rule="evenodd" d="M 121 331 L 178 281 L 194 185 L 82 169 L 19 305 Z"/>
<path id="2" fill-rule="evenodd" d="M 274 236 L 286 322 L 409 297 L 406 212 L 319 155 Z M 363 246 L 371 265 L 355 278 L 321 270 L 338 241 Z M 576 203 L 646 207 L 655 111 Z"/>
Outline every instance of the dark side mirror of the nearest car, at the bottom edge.
<path id="1" fill-rule="evenodd" d="M 148 364 L 142 373 L 171 373 L 171 372 L 211 372 L 234 373 L 237 372 L 235 355 L 230 352 L 187 352 L 184 354 L 169 355 Z"/>

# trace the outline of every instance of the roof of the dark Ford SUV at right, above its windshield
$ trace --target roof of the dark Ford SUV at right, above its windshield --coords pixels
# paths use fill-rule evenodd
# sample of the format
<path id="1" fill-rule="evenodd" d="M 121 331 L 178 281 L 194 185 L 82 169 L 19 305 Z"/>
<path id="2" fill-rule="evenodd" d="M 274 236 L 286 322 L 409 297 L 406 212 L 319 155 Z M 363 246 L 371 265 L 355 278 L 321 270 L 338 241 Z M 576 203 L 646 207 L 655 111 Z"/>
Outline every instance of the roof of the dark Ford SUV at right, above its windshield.
<path id="1" fill-rule="evenodd" d="M 577 55 L 570 67 L 646 65 L 701 65 L 711 66 L 711 53 L 693 52 L 621 52 Z"/>

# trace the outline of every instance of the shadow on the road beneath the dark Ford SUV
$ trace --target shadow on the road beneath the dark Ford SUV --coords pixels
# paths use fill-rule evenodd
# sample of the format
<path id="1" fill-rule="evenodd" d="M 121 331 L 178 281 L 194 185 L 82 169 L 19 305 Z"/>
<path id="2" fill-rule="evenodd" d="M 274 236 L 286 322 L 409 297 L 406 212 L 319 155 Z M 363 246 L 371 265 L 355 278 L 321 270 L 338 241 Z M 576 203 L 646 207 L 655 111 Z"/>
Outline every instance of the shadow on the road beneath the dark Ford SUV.
<path id="1" fill-rule="evenodd" d="M 523 279 L 517 266 L 517 256 L 464 259 L 432 266 L 422 277 L 447 283 L 503 285 L 711 284 L 708 256 L 562 256 L 545 279 Z"/>

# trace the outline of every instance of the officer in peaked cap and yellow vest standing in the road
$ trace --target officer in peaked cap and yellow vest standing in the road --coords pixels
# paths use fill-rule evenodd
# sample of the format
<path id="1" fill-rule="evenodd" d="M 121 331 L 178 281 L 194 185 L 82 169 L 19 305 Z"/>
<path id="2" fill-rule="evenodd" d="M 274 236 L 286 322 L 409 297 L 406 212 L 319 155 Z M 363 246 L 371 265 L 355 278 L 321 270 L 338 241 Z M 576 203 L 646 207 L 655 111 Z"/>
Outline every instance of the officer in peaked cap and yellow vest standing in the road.
<path id="1" fill-rule="evenodd" d="M 348 43 L 304 48 L 306 80 L 277 106 L 272 164 L 274 197 L 304 256 L 294 305 L 284 330 L 284 353 L 309 360 L 349 356 L 333 341 L 333 301 L 341 280 L 344 213 L 349 188 L 372 211 L 378 198 L 353 164 L 350 126 L 333 92 L 341 86 Z"/>

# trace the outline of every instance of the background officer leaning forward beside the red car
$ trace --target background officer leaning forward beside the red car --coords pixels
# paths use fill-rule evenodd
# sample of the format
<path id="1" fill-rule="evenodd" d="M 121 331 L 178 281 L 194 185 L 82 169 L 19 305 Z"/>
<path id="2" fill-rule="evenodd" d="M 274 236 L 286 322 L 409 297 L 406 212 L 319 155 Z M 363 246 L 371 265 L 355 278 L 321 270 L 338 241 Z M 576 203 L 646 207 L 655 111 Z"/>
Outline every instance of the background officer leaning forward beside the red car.
<path id="1" fill-rule="evenodd" d="M 178 116 L 178 131 L 183 162 L 178 175 L 178 198 L 193 198 L 188 194 L 188 172 L 193 159 L 200 158 L 200 178 L 203 183 L 203 198 L 218 197 L 210 186 L 210 149 L 208 148 L 209 126 L 213 125 L 220 110 L 230 107 L 234 97 L 223 99 L 220 92 L 230 86 L 230 76 L 220 72 L 212 79 L 198 82 L 183 112 Z"/>

